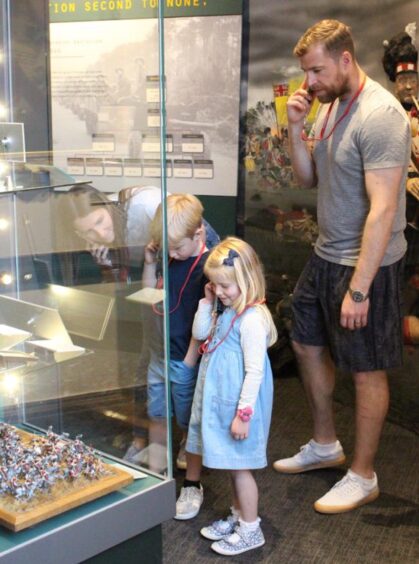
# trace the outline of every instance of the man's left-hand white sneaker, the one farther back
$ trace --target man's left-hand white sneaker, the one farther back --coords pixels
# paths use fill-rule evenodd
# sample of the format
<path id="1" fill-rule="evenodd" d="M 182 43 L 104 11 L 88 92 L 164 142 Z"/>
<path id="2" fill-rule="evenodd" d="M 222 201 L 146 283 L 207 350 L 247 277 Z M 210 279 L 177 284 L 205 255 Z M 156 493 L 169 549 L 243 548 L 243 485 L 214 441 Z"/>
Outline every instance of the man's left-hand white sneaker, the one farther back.
<path id="1" fill-rule="evenodd" d="M 284 474 L 298 474 L 308 470 L 318 470 L 319 468 L 333 468 L 344 464 L 346 456 L 342 445 L 336 441 L 336 447 L 332 453 L 323 454 L 318 452 L 313 439 L 300 448 L 300 452 L 291 458 L 282 458 L 274 462 L 273 466 L 277 472 Z"/>

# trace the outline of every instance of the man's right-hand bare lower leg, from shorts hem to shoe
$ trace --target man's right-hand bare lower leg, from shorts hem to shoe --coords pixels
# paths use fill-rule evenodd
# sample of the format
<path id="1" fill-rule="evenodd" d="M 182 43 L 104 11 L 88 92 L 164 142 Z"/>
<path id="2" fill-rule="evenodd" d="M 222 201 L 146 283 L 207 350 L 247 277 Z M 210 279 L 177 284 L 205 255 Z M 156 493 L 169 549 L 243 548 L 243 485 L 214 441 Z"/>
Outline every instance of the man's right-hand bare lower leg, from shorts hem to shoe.
<path id="1" fill-rule="evenodd" d="M 389 406 L 387 374 L 382 370 L 354 374 L 356 392 L 355 450 L 351 470 L 374 476 L 374 458 Z"/>

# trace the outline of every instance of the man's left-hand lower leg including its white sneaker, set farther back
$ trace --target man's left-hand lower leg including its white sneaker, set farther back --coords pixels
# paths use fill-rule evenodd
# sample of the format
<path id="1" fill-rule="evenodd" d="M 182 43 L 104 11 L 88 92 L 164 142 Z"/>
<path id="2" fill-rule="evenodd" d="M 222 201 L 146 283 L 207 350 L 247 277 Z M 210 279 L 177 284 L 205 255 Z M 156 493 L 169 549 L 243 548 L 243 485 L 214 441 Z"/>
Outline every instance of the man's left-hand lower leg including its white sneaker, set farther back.
<path id="1" fill-rule="evenodd" d="M 293 342 L 294 351 L 314 423 L 313 439 L 291 458 L 274 462 L 274 469 L 286 474 L 340 466 L 345 455 L 333 417 L 335 368 L 327 347 Z"/>

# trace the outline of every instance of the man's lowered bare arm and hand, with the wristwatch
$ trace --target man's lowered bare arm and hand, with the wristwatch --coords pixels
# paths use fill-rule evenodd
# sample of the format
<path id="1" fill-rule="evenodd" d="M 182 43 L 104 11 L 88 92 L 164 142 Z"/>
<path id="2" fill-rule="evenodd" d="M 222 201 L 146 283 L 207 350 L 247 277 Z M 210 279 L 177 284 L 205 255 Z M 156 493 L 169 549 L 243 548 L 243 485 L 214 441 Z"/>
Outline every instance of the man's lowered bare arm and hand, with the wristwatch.
<path id="1" fill-rule="evenodd" d="M 363 294 L 368 294 L 390 240 L 403 173 L 403 167 L 365 172 L 370 211 L 362 235 L 361 252 L 350 282 L 352 289 L 360 290 Z M 349 293 L 346 293 L 341 308 L 342 327 L 348 329 L 364 327 L 367 324 L 368 309 L 368 299 L 356 303 Z"/>

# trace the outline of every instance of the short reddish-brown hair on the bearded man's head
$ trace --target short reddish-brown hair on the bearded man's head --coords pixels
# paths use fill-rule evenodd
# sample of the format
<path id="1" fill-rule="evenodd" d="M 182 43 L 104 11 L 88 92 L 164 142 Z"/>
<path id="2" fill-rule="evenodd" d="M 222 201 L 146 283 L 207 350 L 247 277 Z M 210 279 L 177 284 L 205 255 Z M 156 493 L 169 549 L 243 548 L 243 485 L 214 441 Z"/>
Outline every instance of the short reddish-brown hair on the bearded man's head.
<path id="1" fill-rule="evenodd" d="M 349 51 L 355 58 L 355 46 L 351 28 L 338 20 L 321 20 L 309 27 L 294 47 L 294 55 L 302 57 L 313 45 L 324 45 L 331 56 Z"/>

